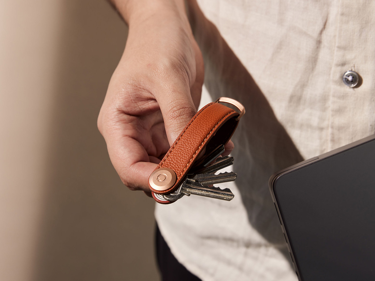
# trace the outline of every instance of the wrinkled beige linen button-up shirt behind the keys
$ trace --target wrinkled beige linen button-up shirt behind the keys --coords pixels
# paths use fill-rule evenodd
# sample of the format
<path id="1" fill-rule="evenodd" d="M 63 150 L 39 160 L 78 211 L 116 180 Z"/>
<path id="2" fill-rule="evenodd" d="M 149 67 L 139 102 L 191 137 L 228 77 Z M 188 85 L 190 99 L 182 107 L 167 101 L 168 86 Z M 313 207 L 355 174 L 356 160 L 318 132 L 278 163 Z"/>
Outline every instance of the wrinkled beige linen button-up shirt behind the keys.
<path id="1" fill-rule="evenodd" d="M 193 24 L 205 58 L 201 105 L 229 96 L 246 108 L 232 138 L 238 177 L 220 185 L 235 197 L 157 205 L 157 223 L 175 257 L 204 281 L 297 280 L 268 179 L 374 134 L 375 1 L 198 3 L 220 32 Z M 347 70 L 362 77 L 359 87 L 344 84 Z"/>

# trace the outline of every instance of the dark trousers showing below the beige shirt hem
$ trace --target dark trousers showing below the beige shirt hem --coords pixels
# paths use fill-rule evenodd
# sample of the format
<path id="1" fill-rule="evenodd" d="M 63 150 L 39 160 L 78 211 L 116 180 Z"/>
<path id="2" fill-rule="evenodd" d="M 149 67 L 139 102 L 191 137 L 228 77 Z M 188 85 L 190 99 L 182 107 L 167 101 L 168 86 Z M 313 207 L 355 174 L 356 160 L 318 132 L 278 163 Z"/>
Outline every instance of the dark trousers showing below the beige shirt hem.
<path id="1" fill-rule="evenodd" d="M 188 271 L 171 253 L 156 224 L 156 257 L 162 281 L 201 281 Z"/>

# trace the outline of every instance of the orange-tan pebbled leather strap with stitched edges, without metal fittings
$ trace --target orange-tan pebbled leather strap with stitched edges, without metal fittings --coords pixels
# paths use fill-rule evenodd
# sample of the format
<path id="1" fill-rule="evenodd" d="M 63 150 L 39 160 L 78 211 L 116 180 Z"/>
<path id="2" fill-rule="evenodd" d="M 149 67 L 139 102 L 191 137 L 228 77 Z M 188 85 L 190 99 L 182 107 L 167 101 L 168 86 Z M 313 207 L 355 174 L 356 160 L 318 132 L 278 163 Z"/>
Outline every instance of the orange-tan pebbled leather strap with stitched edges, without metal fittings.
<path id="1" fill-rule="evenodd" d="M 204 148 L 205 153 L 209 153 L 229 141 L 237 127 L 239 115 L 233 109 L 217 102 L 209 103 L 198 111 L 155 169 L 171 169 L 176 176 L 175 183 L 166 190 L 156 190 L 149 183 L 151 191 L 158 194 L 173 192 Z"/>

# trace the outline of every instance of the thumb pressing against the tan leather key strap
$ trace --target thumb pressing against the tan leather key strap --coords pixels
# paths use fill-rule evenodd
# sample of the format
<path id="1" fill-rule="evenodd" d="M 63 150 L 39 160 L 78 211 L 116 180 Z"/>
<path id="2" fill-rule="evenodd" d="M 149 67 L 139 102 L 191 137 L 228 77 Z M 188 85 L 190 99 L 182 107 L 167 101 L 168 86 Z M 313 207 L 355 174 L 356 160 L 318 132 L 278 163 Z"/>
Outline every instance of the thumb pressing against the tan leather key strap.
<path id="1" fill-rule="evenodd" d="M 180 135 L 191 118 L 196 114 L 196 108 L 190 94 L 188 79 L 175 78 L 163 85 L 163 93 L 156 98 L 163 115 L 165 132 L 169 145 Z"/>

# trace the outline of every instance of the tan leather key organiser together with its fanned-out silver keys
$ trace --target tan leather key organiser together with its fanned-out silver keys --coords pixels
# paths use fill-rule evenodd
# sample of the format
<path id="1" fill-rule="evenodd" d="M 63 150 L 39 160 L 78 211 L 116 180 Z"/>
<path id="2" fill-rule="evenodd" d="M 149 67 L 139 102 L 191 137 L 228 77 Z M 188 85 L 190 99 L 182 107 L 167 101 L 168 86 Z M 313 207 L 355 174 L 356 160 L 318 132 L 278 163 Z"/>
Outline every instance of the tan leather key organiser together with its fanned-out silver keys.
<path id="1" fill-rule="evenodd" d="M 220 97 L 195 114 L 148 179 L 156 202 L 169 204 L 190 194 L 231 200 L 234 195 L 228 188 L 221 190 L 213 184 L 236 179 L 236 173 L 215 172 L 233 164 L 233 157 L 219 155 L 244 114 L 243 105 L 228 97 Z"/>

